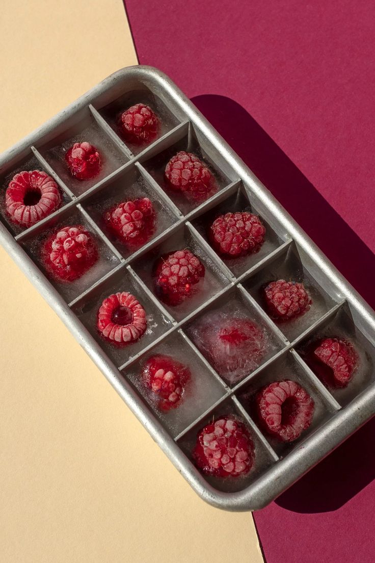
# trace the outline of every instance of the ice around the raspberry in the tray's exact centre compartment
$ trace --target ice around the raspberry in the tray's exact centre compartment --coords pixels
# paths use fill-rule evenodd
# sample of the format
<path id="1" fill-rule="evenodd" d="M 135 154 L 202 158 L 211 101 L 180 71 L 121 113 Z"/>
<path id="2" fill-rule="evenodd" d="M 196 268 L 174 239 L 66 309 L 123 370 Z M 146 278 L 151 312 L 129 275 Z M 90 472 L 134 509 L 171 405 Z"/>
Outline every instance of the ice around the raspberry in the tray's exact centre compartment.
<path id="1" fill-rule="evenodd" d="M 132 262 L 132 267 L 139 278 L 150 288 L 150 291 L 155 293 L 155 276 L 153 275 L 155 265 L 166 254 L 184 249 L 191 251 L 198 257 L 205 268 L 205 275 L 196 285 L 193 285 L 192 295 L 179 305 L 171 306 L 162 303 L 165 309 L 178 321 L 191 314 L 209 298 L 214 297 L 229 283 L 220 268 L 207 256 L 204 249 L 202 249 L 192 235 L 188 225 L 181 225 L 161 244 L 151 248 L 150 251 L 142 254 L 141 257 Z"/>

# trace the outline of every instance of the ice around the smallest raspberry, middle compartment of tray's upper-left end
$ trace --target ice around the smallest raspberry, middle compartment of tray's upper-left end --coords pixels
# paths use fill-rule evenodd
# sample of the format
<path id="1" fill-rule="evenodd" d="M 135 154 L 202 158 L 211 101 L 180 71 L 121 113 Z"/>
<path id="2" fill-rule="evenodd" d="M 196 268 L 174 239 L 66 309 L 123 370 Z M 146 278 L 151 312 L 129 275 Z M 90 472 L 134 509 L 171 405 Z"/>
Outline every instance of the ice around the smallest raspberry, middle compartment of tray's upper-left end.
<path id="1" fill-rule="evenodd" d="M 97 176 L 88 180 L 78 180 L 71 175 L 65 156 L 75 142 L 89 142 L 98 150 L 101 157 L 101 170 Z M 38 150 L 64 184 L 77 196 L 98 184 L 129 160 L 125 151 L 120 150 L 114 144 L 88 109 L 78 123 L 48 141 Z"/>

